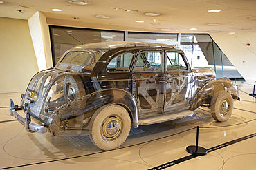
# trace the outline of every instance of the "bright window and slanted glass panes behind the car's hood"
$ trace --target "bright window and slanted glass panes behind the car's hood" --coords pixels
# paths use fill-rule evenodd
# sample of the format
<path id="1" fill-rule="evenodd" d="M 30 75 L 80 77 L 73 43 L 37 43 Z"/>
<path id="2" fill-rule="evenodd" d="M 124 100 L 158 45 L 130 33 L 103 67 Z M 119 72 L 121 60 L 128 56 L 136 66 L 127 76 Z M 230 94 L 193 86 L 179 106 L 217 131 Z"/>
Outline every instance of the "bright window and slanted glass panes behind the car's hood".
<path id="1" fill-rule="evenodd" d="M 209 34 L 181 34 L 180 47 L 192 67 L 212 67 L 217 78 L 243 78 Z"/>

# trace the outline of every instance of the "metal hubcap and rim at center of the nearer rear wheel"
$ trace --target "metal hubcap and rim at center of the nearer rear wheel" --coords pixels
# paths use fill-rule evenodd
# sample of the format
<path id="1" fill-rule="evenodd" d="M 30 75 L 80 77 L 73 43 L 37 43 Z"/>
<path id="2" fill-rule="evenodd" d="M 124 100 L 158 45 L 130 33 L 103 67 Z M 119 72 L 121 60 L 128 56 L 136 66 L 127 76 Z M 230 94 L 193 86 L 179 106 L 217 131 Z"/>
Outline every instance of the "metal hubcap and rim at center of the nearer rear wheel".
<path id="1" fill-rule="evenodd" d="M 102 123 L 102 137 L 105 140 L 113 141 L 122 132 L 122 120 L 118 116 L 109 116 Z"/>

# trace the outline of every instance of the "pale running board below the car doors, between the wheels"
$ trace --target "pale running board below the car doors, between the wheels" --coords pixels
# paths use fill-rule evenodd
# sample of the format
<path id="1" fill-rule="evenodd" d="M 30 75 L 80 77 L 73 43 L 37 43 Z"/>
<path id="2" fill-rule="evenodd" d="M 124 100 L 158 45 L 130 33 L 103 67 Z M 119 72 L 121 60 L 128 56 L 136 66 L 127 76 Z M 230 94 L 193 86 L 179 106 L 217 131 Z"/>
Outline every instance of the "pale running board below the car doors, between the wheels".
<path id="1" fill-rule="evenodd" d="M 192 116 L 194 114 L 193 111 L 191 110 L 186 110 L 186 111 L 181 111 L 177 113 L 172 113 L 172 114 L 163 114 L 161 116 L 154 116 L 154 117 L 149 117 L 149 118 L 140 118 L 138 120 L 138 125 L 149 125 L 149 124 L 154 124 L 154 123 L 162 123 L 170 120 L 175 120 L 178 118 L 184 118 L 186 116 Z"/>

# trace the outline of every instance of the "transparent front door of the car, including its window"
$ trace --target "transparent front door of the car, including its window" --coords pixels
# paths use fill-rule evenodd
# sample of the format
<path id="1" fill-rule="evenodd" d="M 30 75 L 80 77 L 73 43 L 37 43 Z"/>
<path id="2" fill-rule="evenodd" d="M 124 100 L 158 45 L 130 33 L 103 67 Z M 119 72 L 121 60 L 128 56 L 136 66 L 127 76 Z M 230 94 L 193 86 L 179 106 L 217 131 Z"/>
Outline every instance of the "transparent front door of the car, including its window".
<path id="1" fill-rule="evenodd" d="M 188 109 L 191 71 L 183 53 L 165 52 L 165 71 L 164 113 Z"/>

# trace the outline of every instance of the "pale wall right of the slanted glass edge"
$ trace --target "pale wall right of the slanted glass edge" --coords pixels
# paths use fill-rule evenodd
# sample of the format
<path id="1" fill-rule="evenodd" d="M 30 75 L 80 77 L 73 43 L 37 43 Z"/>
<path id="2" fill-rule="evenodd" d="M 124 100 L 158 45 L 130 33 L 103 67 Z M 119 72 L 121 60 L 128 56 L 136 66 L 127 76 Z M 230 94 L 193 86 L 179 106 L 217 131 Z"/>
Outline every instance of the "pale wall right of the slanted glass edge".
<path id="1" fill-rule="evenodd" d="M 246 81 L 256 81 L 256 33 L 210 34 Z M 250 43 L 250 46 L 246 44 Z"/>

